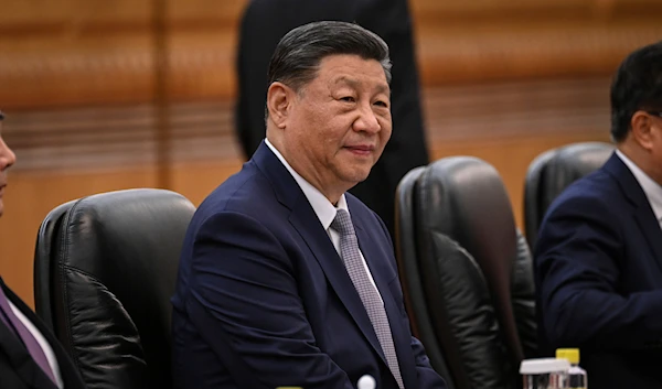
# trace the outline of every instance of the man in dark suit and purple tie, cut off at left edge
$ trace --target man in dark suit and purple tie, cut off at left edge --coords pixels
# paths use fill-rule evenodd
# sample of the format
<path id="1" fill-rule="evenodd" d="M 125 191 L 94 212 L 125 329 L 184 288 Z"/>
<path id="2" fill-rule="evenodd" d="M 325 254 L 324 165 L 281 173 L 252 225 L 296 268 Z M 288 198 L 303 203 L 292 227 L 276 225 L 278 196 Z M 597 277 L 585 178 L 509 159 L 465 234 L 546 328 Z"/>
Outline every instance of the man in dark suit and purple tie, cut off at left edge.
<path id="1" fill-rule="evenodd" d="M 0 112 L 0 131 L 4 116 Z M 0 216 L 14 153 L 0 132 Z M 34 312 L 0 278 L 0 388 L 83 389 L 78 370 Z"/>

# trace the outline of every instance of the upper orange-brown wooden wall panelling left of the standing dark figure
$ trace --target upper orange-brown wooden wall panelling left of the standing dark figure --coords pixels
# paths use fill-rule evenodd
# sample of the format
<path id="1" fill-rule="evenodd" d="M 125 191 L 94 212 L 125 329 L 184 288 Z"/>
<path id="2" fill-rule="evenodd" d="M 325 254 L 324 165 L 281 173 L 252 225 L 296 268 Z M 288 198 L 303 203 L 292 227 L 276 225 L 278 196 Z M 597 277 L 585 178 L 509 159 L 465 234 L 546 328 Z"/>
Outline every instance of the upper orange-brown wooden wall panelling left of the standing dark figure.
<path id="1" fill-rule="evenodd" d="M 234 94 L 245 1 L 164 0 L 167 94 Z M 139 104 L 156 99 L 157 1 L 11 1 L 0 14 L 0 106 Z"/>

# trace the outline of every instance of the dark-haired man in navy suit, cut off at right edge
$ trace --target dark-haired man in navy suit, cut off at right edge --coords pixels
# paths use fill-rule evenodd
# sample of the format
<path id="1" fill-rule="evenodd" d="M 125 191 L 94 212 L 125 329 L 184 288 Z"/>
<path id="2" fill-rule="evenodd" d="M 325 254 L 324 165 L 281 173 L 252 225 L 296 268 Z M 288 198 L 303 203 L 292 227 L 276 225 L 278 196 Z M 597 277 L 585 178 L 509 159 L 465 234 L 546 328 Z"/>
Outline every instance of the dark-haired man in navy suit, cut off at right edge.
<path id="1" fill-rule="evenodd" d="M 611 85 L 617 150 L 549 207 L 535 248 L 541 347 L 579 347 L 591 389 L 662 388 L 662 42 Z"/>

